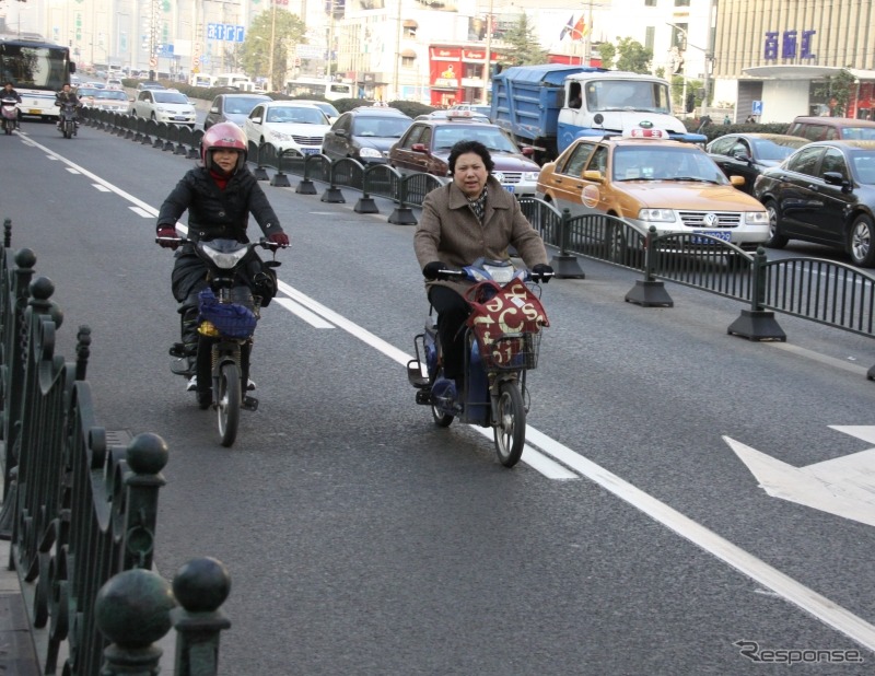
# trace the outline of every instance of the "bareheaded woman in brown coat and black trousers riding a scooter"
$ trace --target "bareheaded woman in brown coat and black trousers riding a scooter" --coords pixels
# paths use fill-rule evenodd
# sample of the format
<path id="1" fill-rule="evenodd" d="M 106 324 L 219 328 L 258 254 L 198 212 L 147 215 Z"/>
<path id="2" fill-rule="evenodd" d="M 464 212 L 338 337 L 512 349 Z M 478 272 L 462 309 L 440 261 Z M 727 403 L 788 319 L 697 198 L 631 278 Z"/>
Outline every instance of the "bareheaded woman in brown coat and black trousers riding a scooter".
<path id="1" fill-rule="evenodd" d="M 450 151 L 447 185 L 425 196 L 413 248 L 429 281 L 429 302 L 438 311 L 444 376 L 460 392 L 465 319 L 470 306 L 463 296 L 470 281 L 438 280 L 444 268 L 462 268 L 477 258 L 506 260 L 513 247 L 535 275 L 552 272 L 540 235 L 523 215 L 516 198 L 491 176 L 494 164 L 486 145 L 459 141 Z M 546 282 L 549 278 L 545 277 Z"/>

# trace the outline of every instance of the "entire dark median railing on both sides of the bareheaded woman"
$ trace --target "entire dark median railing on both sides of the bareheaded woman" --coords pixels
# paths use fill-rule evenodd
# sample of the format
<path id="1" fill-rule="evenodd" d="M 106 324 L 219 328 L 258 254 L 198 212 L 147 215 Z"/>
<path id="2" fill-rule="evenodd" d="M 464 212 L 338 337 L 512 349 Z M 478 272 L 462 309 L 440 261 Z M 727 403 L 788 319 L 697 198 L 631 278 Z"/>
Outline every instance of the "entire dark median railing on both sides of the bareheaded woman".
<path id="1" fill-rule="evenodd" d="M 145 127 L 142 133 L 155 136 L 156 145 L 162 136 L 170 135 L 156 126 Z M 195 131 L 191 138 L 179 138 L 178 142 L 199 144 L 199 135 L 202 132 Z M 326 202 L 345 201 L 340 187 L 360 190 L 362 197 L 354 208 L 359 213 L 378 212 L 374 195 L 389 199 L 397 206 L 388 222 L 405 225 L 417 223 L 411 207 L 421 206 L 430 190 L 445 183 L 430 174 L 402 176 L 385 164 L 365 167 L 352 159 L 331 162 L 324 155 L 294 158 L 278 153 L 269 143 L 250 143 L 249 161 L 257 165 L 254 173 L 259 179 L 268 179 L 266 167 L 277 171 L 271 185 L 288 186 L 288 173 L 301 176 L 296 193 L 302 195 L 317 194 L 314 180 L 327 183 L 322 196 Z M 631 303 L 672 306 L 663 280 L 747 302 L 749 310 L 742 311 L 728 331 L 751 340 L 786 339 L 774 312 L 875 337 L 875 277 L 853 266 L 812 258 L 768 260 L 762 248 L 750 253 L 709 235 L 657 235 L 653 228 L 642 231 L 607 214 L 571 217 L 567 209 L 559 211 L 529 196 L 520 197 L 520 205 L 545 243 L 558 249 L 551 265 L 560 278 L 584 278 L 576 259 L 583 256 L 641 271 L 644 279 L 626 295 Z M 875 366 L 868 377 L 875 380 Z"/>

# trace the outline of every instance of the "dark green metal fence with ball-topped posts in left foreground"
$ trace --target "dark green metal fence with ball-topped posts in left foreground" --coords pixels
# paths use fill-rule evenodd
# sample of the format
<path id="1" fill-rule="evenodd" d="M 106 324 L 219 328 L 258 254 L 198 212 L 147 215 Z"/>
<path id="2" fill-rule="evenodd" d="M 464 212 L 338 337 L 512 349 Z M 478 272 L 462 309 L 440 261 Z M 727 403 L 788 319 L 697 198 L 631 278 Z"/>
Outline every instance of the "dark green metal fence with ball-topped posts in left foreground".
<path id="1" fill-rule="evenodd" d="M 63 313 L 36 255 L 0 247 L 0 412 L 3 503 L 0 538 L 10 540 L 42 673 L 158 674 L 154 645 L 176 628 L 177 676 L 218 673 L 219 610 L 230 591 L 221 562 L 195 559 L 171 585 L 151 572 L 161 471 L 168 452 L 156 434 L 97 424 L 85 381 L 91 330 L 81 326 L 75 360 L 58 349 Z M 178 604 L 178 607 L 177 607 Z"/>

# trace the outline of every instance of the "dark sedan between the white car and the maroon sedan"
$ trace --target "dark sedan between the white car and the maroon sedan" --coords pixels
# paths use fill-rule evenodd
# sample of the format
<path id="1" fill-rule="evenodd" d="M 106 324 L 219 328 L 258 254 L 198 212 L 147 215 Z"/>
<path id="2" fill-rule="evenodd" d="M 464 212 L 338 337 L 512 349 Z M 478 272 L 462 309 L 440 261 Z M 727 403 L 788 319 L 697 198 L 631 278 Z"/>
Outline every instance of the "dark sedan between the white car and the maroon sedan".
<path id="1" fill-rule="evenodd" d="M 325 135 L 322 154 L 352 158 L 364 165 L 385 164 L 389 148 L 413 120 L 396 108 L 360 107 L 343 113 Z"/>

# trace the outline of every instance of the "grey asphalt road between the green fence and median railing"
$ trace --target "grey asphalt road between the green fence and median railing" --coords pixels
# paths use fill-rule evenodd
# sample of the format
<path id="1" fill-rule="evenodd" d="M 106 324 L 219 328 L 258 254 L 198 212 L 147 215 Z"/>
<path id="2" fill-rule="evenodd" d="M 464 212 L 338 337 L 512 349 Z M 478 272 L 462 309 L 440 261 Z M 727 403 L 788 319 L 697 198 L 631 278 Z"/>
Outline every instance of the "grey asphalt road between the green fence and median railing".
<path id="1" fill-rule="evenodd" d="M 351 191 L 264 184 L 288 300 L 264 313 L 260 407 L 225 450 L 167 368 L 172 257 L 152 240 L 191 162 L 23 131 L 0 218 L 56 283 L 61 353 L 92 328 L 97 419 L 170 445 L 159 570 L 231 571 L 221 673 L 872 673 L 870 339 L 779 316 L 786 343 L 750 342 L 726 334 L 736 302 L 669 285 L 674 307 L 639 307 L 635 273 L 583 260 L 545 288 L 533 447 L 508 470 L 415 404 L 413 229 L 385 203 L 354 213 Z"/>

